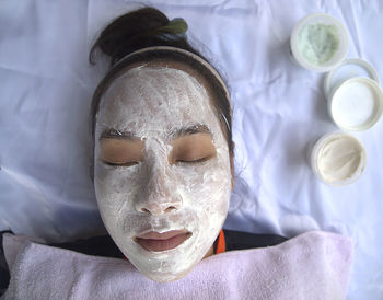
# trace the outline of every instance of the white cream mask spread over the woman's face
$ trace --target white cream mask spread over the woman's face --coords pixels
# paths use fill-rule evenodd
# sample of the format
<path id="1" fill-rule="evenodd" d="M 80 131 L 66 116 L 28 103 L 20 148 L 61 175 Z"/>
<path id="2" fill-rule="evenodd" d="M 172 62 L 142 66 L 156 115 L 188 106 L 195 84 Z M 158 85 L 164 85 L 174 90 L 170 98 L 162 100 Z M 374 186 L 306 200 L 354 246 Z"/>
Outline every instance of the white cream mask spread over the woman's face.
<path id="1" fill-rule="evenodd" d="M 171 164 L 175 128 L 206 125 L 217 155 L 201 164 Z M 144 141 L 144 159 L 111 166 L 101 158 L 104 130 L 134 131 Z M 104 93 L 95 128 L 94 186 L 104 224 L 124 255 L 155 281 L 181 279 L 207 254 L 228 215 L 231 172 L 228 142 L 209 95 L 187 72 L 137 67 Z M 177 209 L 165 211 L 170 206 Z M 140 208 L 150 212 L 142 212 Z M 183 230 L 193 235 L 175 249 L 151 252 L 132 239 L 147 231 Z"/>

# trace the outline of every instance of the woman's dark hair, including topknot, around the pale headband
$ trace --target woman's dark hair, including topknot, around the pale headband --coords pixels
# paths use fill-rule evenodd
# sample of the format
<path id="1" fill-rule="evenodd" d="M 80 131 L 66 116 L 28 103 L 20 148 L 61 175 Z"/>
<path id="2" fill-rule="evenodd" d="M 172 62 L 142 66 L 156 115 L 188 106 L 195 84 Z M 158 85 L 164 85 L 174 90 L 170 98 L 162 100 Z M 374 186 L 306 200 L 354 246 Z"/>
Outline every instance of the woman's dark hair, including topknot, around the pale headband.
<path id="1" fill-rule="evenodd" d="M 222 83 L 211 70 L 205 66 L 205 64 L 192 59 L 190 56 L 185 55 L 182 51 L 172 51 L 170 49 L 155 49 L 143 51 L 128 58 L 126 57 L 127 55 L 146 47 L 171 46 L 193 53 L 205 61 L 208 61 L 199 51 L 189 45 L 185 34 L 163 31 L 170 22 L 171 21 L 161 11 L 146 7 L 117 18 L 102 31 L 90 51 L 89 59 L 92 65 L 95 64 L 94 55 L 95 50 L 98 48 L 102 53 L 111 57 L 111 69 L 100 82 L 93 95 L 91 106 L 91 126 L 93 137 L 96 122 L 95 116 L 98 111 L 101 95 L 108 84 L 111 84 L 112 80 L 131 64 L 166 59 L 188 65 L 207 80 L 210 85 L 209 88 L 214 94 L 212 101 L 217 108 L 222 130 L 228 140 L 230 155 L 233 155 L 234 147 L 232 141 L 232 120 L 229 95 L 227 95 L 227 91 L 222 86 Z M 123 58 L 124 64 L 117 64 L 123 62 Z"/>

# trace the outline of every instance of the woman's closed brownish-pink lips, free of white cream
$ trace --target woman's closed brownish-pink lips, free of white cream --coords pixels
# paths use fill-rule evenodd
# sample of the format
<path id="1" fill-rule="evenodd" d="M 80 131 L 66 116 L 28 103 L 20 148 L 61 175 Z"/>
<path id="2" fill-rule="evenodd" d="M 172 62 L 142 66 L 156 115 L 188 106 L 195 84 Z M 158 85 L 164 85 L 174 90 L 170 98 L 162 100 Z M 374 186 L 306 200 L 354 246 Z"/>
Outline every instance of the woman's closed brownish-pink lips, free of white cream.
<path id="1" fill-rule="evenodd" d="M 163 233 L 150 231 L 137 235 L 134 240 L 144 250 L 161 252 L 177 247 L 192 235 L 193 233 L 186 230 L 171 230 Z"/>

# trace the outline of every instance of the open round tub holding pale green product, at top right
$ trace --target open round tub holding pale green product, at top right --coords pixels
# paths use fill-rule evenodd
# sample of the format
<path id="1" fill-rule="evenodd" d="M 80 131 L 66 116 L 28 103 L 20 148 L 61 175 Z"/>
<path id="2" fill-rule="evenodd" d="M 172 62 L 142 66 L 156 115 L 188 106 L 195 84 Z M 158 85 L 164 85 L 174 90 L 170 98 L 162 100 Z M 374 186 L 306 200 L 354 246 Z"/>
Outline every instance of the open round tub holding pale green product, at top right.
<path id="1" fill-rule="evenodd" d="M 327 72 L 337 67 L 347 55 L 347 31 L 329 14 L 309 14 L 294 26 L 290 50 L 299 66 L 311 71 Z"/>

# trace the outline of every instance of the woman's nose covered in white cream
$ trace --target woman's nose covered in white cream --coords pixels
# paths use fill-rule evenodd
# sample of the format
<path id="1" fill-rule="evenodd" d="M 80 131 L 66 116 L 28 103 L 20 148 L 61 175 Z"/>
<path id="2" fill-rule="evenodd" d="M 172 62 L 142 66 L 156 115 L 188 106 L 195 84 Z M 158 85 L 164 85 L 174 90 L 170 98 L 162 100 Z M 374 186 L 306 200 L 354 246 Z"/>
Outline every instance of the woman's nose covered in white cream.
<path id="1" fill-rule="evenodd" d="M 182 207 L 182 198 L 176 192 L 175 182 L 165 170 L 152 170 L 143 187 L 136 210 L 154 216 L 176 211 Z M 167 173 L 167 174 L 166 174 Z"/>

